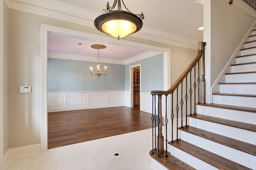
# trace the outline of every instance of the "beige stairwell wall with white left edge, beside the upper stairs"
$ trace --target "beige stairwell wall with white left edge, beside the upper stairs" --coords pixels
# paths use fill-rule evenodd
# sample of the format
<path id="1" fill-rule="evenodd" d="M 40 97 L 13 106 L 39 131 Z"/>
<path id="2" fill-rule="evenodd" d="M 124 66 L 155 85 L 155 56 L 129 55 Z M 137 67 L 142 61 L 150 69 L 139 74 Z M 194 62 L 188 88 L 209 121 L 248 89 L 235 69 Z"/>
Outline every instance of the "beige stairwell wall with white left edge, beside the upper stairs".
<path id="1" fill-rule="evenodd" d="M 255 18 L 234 4 L 228 4 L 226 0 L 204 0 L 204 41 L 207 43 L 206 69 L 208 69 L 206 92 L 210 92 L 210 87 L 254 21 Z M 209 98 L 208 102 L 210 102 Z"/>

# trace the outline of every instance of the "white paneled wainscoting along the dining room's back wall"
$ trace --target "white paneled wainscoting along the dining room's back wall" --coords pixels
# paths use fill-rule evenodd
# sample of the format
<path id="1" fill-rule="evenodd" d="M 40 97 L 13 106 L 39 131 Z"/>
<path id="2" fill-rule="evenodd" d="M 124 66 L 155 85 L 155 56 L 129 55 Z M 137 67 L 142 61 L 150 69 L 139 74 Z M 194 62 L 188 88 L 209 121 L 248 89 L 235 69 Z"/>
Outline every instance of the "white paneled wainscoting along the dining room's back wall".
<path id="1" fill-rule="evenodd" d="M 124 105 L 124 91 L 49 92 L 48 112 Z"/>

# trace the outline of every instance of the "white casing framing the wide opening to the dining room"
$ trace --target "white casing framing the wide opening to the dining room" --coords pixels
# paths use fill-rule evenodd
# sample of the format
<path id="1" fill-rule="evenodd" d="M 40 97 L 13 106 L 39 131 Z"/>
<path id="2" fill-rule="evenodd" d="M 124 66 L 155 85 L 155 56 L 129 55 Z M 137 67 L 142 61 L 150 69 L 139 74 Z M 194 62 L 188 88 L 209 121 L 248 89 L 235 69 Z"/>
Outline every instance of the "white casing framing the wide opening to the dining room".
<path id="1" fill-rule="evenodd" d="M 47 35 L 49 32 L 60 33 L 71 36 L 78 36 L 88 39 L 100 39 L 102 41 L 116 43 L 116 38 L 107 37 L 102 35 L 96 35 L 92 33 L 85 33 L 72 29 L 66 29 L 62 27 L 56 27 L 52 25 L 41 24 L 41 134 L 40 134 L 40 149 L 41 152 L 48 149 L 48 115 L 47 115 Z M 132 41 L 118 41 L 120 45 L 129 45 L 133 47 L 139 47 L 148 51 L 155 51 L 158 53 L 164 53 L 164 60 L 166 59 L 168 64 L 164 64 L 164 87 L 170 86 L 170 49 L 157 47 L 153 45 L 147 45 L 142 43 L 136 43 Z M 168 65 L 168 67 L 167 67 Z M 167 76 L 168 75 L 168 76 Z M 167 84 L 168 83 L 168 84 Z M 140 106 L 141 107 L 141 106 Z"/>

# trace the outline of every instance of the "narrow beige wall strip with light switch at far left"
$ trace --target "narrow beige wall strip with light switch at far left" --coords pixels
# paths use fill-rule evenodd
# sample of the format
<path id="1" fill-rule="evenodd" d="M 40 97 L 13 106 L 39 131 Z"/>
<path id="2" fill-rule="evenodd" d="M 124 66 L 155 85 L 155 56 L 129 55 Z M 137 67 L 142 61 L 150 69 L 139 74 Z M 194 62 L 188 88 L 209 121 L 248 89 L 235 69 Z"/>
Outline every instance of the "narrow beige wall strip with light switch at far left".
<path id="1" fill-rule="evenodd" d="M 4 85 L 8 85 L 8 7 L 3 2 L 3 14 L 4 14 Z M 4 103 L 3 103 L 3 135 L 4 135 L 4 143 L 3 143 L 3 151 L 4 154 L 9 148 L 9 135 L 8 135 L 8 129 L 9 129 L 9 121 L 8 121 L 8 92 L 4 92 Z"/>

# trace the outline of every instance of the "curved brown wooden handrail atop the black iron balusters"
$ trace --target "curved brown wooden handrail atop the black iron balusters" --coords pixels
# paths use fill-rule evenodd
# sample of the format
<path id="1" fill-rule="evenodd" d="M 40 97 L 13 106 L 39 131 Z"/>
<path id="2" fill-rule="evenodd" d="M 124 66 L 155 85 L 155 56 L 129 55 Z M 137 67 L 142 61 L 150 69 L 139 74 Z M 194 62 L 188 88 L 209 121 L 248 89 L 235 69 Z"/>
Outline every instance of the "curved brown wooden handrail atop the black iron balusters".
<path id="1" fill-rule="evenodd" d="M 174 90 L 176 90 L 176 88 L 181 84 L 182 80 L 184 80 L 184 78 L 186 78 L 186 76 L 192 70 L 192 68 L 196 65 L 196 63 L 198 63 L 198 61 L 200 61 L 200 59 L 204 53 L 205 45 L 206 45 L 205 42 L 202 42 L 202 41 L 198 42 L 198 52 L 197 52 L 196 58 L 188 65 L 186 70 L 179 76 L 179 78 L 174 82 L 174 84 L 172 84 L 172 86 L 168 90 L 166 90 L 166 91 L 152 90 L 151 94 L 156 94 L 156 95 L 172 94 L 174 92 Z"/>

